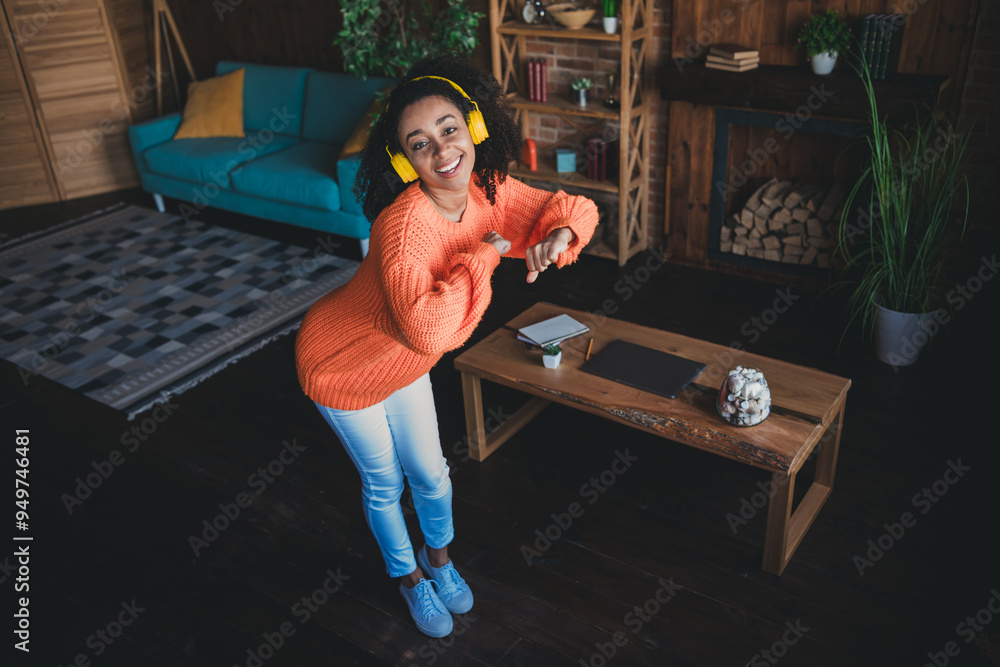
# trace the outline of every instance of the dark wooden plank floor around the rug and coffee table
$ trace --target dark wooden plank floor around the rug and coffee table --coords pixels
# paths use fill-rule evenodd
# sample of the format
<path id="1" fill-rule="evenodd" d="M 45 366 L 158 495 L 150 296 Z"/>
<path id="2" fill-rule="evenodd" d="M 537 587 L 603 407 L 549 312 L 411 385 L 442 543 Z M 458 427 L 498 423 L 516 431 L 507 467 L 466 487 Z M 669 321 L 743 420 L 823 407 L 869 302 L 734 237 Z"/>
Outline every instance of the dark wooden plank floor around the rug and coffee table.
<path id="1" fill-rule="evenodd" d="M 151 205 L 127 191 L 4 211 L 0 232 L 13 238 L 119 199 Z M 315 233 L 286 225 L 202 217 L 315 243 Z M 996 244 L 978 250 L 989 258 Z M 851 378 L 834 493 L 783 576 L 760 570 L 766 510 L 748 508 L 762 498 L 762 471 L 560 407 L 486 463 L 466 460 L 453 353 L 432 380 L 453 471 L 452 555 L 476 606 L 452 637 L 429 640 L 385 576 L 350 460 L 299 389 L 292 337 L 189 390 L 169 415 L 152 413 L 159 422 L 151 413 L 127 422 L 44 379 L 25 386 L 2 362 L 4 470 L 13 430 L 30 429 L 35 535 L 32 653 L 9 651 L 9 615 L 5 653 L 24 665 L 82 655 L 77 664 L 840 667 L 923 665 L 928 653 L 931 664 L 991 664 L 966 642 L 964 619 L 1000 638 L 1000 614 L 988 607 L 994 594 L 994 609 L 1000 603 L 1000 280 L 955 313 L 917 367 L 895 372 L 854 333 L 838 354 L 836 296 L 791 288 L 793 306 L 758 327 L 752 318 L 776 290 L 789 294 L 785 285 L 666 265 L 630 288 L 643 262 L 619 269 L 584 257 L 527 285 L 523 264 L 505 261 L 472 342 L 538 300 L 595 310 L 611 299 L 621 319 Z M 485 401 L 509 414 L 523 398 L 487 386 Z M 134 438 L 137 425 L 148 434 Z M 304 450 L 265 478 L 258 470 L 277 469 L 284 443 Z M 124 461 L 69 514 L 65 494 L 114 450 Z M 637 462 L 613 484 L 584 488 L 625 451 Z M 939 481 L 958 462 L 969 470 Z M 241 493 L 252 504 L 224 519 L 220 506 L 232 513 Z M 559 527 L 553 515 L 572 503 L 584 513 Z M 734 530 L 741 508 L 749 519 Z M 900 535 L 893 526 L 906 512 L 915 523 Z M 224 529 L 204 536 L 213 520 Z M 546 530 L 556 539 L 529 565 L 522 547 L 545 547 L 535 541 Z M 415 522 L 411 534 L 419 544 Z M 192 536 L 206 539 L 197 556 Z M 869 541 L 885 553 L 866 556 Z M 10 605 L 13 548 L 0 554 Z M 855 556 L 872 563 L 859 572 Z M 957 657 L 945 654 L 949 642 Z"/>

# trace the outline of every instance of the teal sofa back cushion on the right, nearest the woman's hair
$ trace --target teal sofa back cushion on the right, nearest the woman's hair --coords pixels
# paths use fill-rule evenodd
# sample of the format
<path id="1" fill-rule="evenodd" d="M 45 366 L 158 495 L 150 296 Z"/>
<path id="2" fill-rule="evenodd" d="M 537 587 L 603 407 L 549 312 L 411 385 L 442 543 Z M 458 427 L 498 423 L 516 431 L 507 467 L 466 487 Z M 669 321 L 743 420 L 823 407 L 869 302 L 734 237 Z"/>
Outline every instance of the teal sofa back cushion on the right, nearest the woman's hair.
<path id="1" fill-rule="evenodd" d="M 309 72 L 302 138 L 346 143 L 375 94 L 394 83 L 381 76 L 361 79 L 339 72 Z"/>

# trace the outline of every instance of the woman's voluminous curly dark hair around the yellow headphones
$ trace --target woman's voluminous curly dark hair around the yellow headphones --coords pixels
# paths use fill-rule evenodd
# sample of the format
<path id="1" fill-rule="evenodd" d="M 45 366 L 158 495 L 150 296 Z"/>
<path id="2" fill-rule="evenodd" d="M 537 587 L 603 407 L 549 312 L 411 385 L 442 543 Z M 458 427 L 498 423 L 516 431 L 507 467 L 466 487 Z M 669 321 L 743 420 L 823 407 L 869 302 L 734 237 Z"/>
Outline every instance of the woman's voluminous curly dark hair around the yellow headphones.
<path id="1" fill-rule="evenodd" d="M 476 146 L 475 174 L 490 204 L 496 204 L 497 185 L 506 180 L 510 163 L 521 162 L 521 125 L 515 121 L 507 96 L 497 80 L 457 55 L 428 58 L 414 65 L 392 90 L 385 111 L 372 128 L 368 143 L 361 152 L 354 192 L 369 222 L 374 221 L 407 187 L 392 168 L 385 150 L 388 146 L 393 153 L 403 151 L 399 143 L 399 120 L 403 110 L 434 95 L 444 97 L 464 115 L 473 109 L 469 101 L 446 81 L 414 81 L 421 76 L 439 76 L 454 81 L 479 105 L 490 136 Z"/>

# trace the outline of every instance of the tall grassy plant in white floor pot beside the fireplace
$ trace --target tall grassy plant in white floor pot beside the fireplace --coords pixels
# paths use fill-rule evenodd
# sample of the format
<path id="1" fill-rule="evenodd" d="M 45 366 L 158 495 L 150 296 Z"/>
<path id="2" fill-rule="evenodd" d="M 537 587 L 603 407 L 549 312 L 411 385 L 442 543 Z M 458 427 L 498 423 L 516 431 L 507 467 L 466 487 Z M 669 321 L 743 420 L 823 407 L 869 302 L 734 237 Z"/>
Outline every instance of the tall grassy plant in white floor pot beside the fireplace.
<path id="1" fill-rule="evenodd" d="M 837 248 L 845 270 L 859 276 L 848 325 L 860 319 L 874 334 L 878 358 L 906 366 L 930 339 L 928 318 L 944 312 L 943 269 L 969 213 L 962 170 L 968 136 L 956 134 L 939 109 L 890 129 L 864 62 L 860 73 L 871 114 L 870 159 L 845 200 Z"/>

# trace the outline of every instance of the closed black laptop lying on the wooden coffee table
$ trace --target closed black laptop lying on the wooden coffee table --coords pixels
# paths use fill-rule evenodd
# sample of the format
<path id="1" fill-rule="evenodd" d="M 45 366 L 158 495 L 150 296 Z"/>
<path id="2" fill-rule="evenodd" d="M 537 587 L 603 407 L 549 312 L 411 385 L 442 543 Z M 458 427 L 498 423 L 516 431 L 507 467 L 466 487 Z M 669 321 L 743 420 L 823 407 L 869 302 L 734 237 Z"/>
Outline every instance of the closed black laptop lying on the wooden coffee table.
<path id="1" fill-rule="evenodd" d="M 675 398 L 701 375 L 705 364 L 626 340 L 613 340 L 580 370 Z"/>

